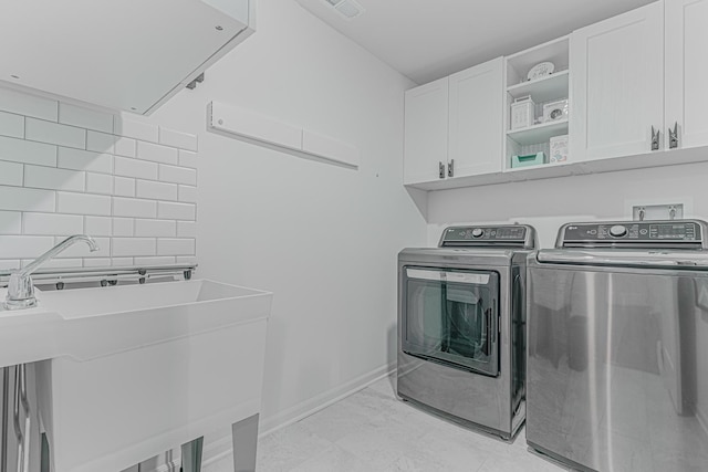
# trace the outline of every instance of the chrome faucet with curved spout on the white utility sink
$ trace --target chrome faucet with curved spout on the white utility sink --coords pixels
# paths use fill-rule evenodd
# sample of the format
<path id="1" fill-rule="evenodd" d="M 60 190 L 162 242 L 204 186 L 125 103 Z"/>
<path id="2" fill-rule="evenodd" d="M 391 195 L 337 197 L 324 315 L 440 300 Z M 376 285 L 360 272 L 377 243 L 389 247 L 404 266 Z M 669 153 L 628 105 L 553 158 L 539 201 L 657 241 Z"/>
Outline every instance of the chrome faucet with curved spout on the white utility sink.
<path id="1" fill-rule="evenodd" d="M 79 241 L 83 241 L 88 244 L 88 249 L 91 249 L 91 252 L 98 250 L 98 245 L 96 244 L 96 242 L 88 235 L 74 234 L 73 237 L 66 238 L 54 248 L 37 258 L 27 268 L 14 271 L 12 272 L 12 274 L 10 274 L 10 281 L 8 283 L 8 296 L 4 300 L 4 307 L 7 310 L 21 310 L 37 306 L 37 298 L 34 297 L 34 285 L 32 284 L 32 277 L 30 275 L 46 261 L 55 258 L 60 252 L 64 251 L 66 248 L 73 245 Z"/>

